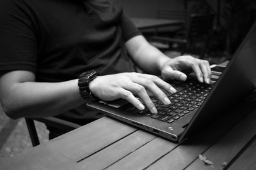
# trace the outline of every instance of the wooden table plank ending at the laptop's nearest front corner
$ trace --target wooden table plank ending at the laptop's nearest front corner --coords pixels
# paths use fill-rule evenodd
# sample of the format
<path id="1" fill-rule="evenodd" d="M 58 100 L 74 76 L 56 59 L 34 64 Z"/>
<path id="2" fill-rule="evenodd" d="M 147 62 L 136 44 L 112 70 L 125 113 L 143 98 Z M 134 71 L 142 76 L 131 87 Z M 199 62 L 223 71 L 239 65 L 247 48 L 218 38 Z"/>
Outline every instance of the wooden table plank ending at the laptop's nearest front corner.
<path id="1" fill-rule="evenodd" d="M 166 139 L 156 138 L 107 169 L 144 169 L 177 145 Z"/>

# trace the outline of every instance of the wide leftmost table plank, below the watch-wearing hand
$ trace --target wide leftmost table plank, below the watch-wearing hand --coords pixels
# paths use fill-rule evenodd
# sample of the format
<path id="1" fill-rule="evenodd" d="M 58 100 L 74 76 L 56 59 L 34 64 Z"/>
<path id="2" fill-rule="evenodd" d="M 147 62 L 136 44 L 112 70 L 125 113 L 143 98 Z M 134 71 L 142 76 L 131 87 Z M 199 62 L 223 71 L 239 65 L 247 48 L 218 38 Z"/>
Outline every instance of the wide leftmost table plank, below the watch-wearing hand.
<path id="1" fill-rule="evenodd" d="M 103 117 L 52 139 L 46 145 L 78 162 L 134 131 L 137 131 L 134 127 Z"/>

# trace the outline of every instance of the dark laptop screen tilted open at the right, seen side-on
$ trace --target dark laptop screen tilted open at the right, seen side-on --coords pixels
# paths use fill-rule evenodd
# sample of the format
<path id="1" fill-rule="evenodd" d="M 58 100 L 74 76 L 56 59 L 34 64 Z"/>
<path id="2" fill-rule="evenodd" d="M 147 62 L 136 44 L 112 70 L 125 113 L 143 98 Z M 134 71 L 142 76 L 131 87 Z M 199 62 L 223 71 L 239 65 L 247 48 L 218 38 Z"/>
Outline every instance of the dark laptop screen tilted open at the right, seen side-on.
<path id="1" fill-rule="evenodd" d="M 182 138 L 193 134 L 216 115 L 243 101 L 256 87 L 256 24 L 221 74 L 204 104 L 186 127 Z"/>

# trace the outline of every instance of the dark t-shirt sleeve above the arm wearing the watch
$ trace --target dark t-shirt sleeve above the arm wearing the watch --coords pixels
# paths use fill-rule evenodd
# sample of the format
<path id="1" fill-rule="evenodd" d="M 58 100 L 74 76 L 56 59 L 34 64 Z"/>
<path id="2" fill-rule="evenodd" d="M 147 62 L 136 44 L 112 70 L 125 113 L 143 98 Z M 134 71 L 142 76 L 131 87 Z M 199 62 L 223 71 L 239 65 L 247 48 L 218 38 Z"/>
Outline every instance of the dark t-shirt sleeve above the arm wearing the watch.
<path id="1" fill-rule="evenodd" d="M 28 6 L 22 1 L 1 1 L 0 23 L 0 73 L 35 72 L 37 43 Z"/>

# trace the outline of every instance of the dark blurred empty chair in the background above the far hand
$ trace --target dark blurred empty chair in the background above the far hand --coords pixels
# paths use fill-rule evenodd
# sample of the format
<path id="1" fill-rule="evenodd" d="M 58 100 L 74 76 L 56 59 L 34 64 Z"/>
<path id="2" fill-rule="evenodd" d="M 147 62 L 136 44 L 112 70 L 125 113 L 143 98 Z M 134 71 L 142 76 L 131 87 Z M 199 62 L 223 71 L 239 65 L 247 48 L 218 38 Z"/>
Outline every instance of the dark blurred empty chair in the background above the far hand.
<path id="1" fill-rule="evenodd" d="M 205 40 L 204 49 L 200 53 L 205 53 L 209 35 L 211 34 L 212 27 L 214 24 L 214 17 L 215 15 L 210 14 L 197 14 L 192 13 L 189 15 L 188 22 L 186 22 L 185 31 L 182 32 L 177 38 L 170 38 L 166 36 L 153 36 L 151 39 L 152 41 L 161 41 L 165 43 L 177 43 L 181 46 L 181 53 L 188 52 L 189 46 L 193 42 L 193 39 L 196 38 L 203 38 Z M 202 41 L 202 40 L 201 40 Z"/>

